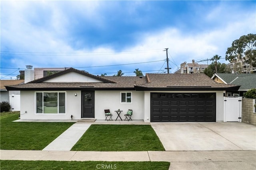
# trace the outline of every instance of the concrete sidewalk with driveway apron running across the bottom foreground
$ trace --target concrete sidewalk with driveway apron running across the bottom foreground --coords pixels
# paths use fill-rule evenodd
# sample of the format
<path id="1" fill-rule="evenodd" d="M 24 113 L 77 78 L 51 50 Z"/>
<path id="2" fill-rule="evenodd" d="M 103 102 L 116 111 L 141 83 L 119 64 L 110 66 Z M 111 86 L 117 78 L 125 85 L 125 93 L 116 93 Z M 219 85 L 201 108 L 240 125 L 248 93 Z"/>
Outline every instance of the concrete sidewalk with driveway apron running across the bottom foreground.
<path id="1" fill-rule="evenodd" d="M 256 151 L 46 151 L 0 150 L 1 160 L 166 161 L 169 170 L 256 169 Z"/>

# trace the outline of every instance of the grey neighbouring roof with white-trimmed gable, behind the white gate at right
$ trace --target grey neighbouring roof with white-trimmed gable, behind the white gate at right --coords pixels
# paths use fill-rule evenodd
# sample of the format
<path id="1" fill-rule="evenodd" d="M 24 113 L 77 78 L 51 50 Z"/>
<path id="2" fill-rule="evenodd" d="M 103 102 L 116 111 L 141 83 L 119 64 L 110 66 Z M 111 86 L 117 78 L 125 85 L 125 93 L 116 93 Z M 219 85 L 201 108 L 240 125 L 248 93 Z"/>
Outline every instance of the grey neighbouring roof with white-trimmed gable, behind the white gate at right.
<path id="1" fill-rule="evenodd" d="M 215 73 L 212 79 L 215 77 L 220 78 L 225 84 L 240 86 L 239 91 L 256 88 L 256 74 Z"/>

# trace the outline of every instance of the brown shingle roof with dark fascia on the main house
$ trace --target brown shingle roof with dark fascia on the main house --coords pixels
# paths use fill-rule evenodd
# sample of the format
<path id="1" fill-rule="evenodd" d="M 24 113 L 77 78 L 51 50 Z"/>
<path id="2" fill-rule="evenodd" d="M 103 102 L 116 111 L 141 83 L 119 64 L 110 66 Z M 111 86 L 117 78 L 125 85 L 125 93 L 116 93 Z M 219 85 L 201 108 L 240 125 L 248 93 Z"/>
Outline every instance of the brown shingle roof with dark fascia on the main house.
<path id="1" fill-rule="evenodd" d="M 76 72 L 100 82 L 49 82 L 50 79 Z M 220 84 L 204 74 L 146 74 L 139 76 L 94 76 L 70 68 L 26 84 L 8 86 L 9 90 L 238 90 L 240 86 Z"/>

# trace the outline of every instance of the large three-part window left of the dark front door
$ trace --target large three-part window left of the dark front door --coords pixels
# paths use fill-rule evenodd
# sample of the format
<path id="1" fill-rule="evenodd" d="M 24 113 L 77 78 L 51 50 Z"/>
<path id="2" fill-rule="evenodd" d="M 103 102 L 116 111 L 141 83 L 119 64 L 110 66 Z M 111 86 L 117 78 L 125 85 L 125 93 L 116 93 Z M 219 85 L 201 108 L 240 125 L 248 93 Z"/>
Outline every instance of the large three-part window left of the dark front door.
<path id="1" fill-rule="evenodd" d="M 36 113 L 66 113 L 66 92 L 36 92 Z"/>

